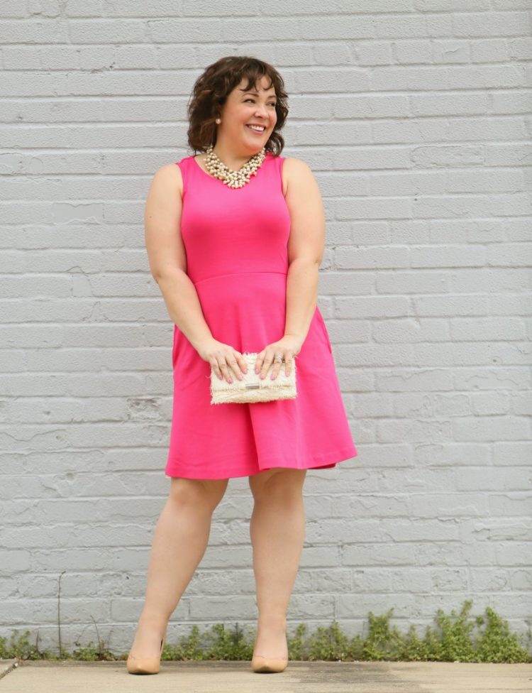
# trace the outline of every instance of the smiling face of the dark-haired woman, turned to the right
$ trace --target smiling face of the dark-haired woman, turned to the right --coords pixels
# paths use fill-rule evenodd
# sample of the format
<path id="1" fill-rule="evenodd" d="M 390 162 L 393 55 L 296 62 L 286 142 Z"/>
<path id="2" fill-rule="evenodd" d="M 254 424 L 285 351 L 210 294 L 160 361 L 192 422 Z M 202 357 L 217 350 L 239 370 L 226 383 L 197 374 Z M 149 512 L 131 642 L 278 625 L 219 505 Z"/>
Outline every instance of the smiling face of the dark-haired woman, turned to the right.
<path id="1" fill-rule="evenodd" d="M 245 153 L 257 153 L 265 146 L 277 123 L 275 110 L 275 89 L 270 78 L 262 77 L 259 84 L 245 92 L 247 80 L 242 80 L 228 95 L 221 111 L 221 124 L 218 125 L 217 141 L 221 138 L 231 141 L 233 146 Z M 250 125 L 262 126 L 263 129 L 251 129 Z"/>

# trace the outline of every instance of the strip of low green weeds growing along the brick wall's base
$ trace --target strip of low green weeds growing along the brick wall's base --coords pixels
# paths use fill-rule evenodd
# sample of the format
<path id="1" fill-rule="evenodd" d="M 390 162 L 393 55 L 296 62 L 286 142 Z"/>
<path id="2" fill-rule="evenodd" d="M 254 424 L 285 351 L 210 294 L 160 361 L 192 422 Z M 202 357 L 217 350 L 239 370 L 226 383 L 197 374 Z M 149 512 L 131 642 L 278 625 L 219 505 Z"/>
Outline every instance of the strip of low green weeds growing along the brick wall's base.
<path id="1" fill-rule="evenodd" d="M 450 616 L 438 609 L 435 617 L 437 628 L 428 626 L 423 638 L 419 637 L 414 626 L 407 633 L 400 633 L 397 626 L 390 627 L 393 609 L 383 616 L 375 616 L 370 611 L 367 635 L 355 635 L 353 638 L 340 630 L 337 621 L 333 621 L 328 628 L 319 626 L 311 635 L 306 635 L 307 626 L 301 623 L 294 634 L 288 636 L 289 659 L 329 662 L 532 662 L 530 631 L 526 635 L 527 643 L 523 645 L 519 640 L 524 636 L 519 638 L 511 633 L 508 623 L 497 616 L 493 609 L 487 607 L 485 616 L 470 618 L 471 606 L 472 601 L 465 601 L 460 613 L 457 615 L 453 610 Z M 32 645 L 29 641 L 30 631 L 24 631 L 22 635 L 17 633 L 13 631 L 9 645 L 6 638 L 0 638 L 0 659 L 116 661 L 127 657 L 127 653 L 113 654 L 99 637 L 97 628 L 97 647 L 90 642 L 71 654 L 61 648 L 59 657 L 48 650 L 39 650 L 38 635 L 37 644 Z M 231 630 L 217 623 L 202 635 L 198 626 L 194 625 L 189 635 L 182 636 L 176 645 L 165 644 L 162 659 L 245 661 L 253 655 L 254 641 L 255 631 L 246 636 L 238 623 Z"/>

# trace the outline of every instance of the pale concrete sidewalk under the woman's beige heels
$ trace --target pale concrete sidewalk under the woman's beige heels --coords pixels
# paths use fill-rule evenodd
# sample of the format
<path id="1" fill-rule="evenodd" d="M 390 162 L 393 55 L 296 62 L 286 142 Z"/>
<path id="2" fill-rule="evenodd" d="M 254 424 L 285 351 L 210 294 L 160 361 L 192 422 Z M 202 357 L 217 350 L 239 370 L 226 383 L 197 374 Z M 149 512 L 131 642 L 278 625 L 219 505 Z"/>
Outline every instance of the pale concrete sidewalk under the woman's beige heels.
<path id="1" fill-rule="evenodd" d="M 532 690 L 532 664 L 288 662 L 255 674 L 250 662 L 163 662 L 131 675 L 126 662 L 0 662 L 0 693 L 511 693 Z"/>

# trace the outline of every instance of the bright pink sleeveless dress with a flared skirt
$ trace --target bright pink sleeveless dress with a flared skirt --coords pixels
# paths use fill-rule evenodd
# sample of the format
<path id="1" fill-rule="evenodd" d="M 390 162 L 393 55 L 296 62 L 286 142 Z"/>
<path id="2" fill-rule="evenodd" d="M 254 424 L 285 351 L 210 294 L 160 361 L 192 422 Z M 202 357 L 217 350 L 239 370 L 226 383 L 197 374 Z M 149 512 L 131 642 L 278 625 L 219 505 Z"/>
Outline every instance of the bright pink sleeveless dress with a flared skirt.
<path id="1" fill-rule="evenodd" d="M 236 189 L 206 173 L 194 155 L 176 162 L 183 178 L 187 275 L 214 339 L 240 353 L 262 351 L 284 334 L 291 222 L 283 161 L 267 152 L 257 175 Z M 295 360 L 295 399 L 211 405 L 211 366 L 174 325 L 165 474 L 229 479 L 273 467 L 325 469 L 355 457 L 318 307 Z"/>

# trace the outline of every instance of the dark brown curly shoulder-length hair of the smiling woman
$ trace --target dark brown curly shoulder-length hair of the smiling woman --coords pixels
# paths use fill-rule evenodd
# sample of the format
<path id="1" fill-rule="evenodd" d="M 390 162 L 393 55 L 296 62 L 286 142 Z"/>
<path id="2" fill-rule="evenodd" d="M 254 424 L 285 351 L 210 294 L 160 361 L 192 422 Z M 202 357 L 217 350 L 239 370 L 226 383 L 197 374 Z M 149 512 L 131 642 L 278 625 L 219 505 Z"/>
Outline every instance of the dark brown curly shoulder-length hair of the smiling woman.
<path id="1" fill-rule="evenodd" d="M 220 117 L 221 107 L 228 95 L 247 77 L 245 89 L 252 89 L 264 76 L 270 77 L 270 86 L 275 88 L 277 96 L 277 123 L 265 144 L 266 151 L 278 156 L 284 147 L 284 138 L 280 133 L 287 119 L 288 94 L 284 91 L 284 82 L 279 72 L 268 62 L 248 55 L 228 55 L 220 58 L 206 68 L 194 82 L 192 96 L 187 107 L 189 129 L 187 138 L 194 151 L 204 152 L 216 144 L 216 118 Z"/>

